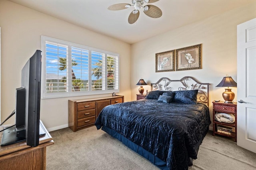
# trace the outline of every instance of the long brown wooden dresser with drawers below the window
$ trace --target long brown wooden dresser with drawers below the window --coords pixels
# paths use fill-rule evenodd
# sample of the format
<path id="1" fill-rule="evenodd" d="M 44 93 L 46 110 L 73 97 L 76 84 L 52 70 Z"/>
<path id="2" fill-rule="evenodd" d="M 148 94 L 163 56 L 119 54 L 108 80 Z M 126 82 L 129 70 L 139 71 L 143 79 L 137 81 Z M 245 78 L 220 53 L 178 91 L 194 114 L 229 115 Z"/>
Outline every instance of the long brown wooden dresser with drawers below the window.
<path id="1" fill-rule="evenodd" d="M 68 100 L 68 127 L 74 132 L 94 126 L 100 111 L 108 105 L 123 103 L 124 96 Z"/>

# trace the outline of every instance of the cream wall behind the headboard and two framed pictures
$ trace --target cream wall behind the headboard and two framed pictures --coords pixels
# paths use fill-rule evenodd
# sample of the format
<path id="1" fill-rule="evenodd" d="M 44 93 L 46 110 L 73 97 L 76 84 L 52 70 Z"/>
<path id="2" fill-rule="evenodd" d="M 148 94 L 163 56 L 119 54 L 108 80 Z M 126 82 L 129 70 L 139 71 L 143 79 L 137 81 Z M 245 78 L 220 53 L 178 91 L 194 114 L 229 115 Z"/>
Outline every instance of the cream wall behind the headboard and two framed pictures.
<path id="1" fill-rule="evenodd" d="M 226 74 L 236 81 L 236 26 L 255 17 L 256 2 L 132 44 L 131 87 L 134 94 L 132 100 L 136 99 L 135 94 L 138 93 L 136 83 L 141 77 L 150 84 L 161 77 L 174 80 L 192 76 L 202 83 L 211 83 L 212 117 L 211 102 L 217 99 L 223 101 L 222 92 L 225 91 L 224 87 L 215 86 Z M 155 72 L 155 53 L 200 43 L 202 43 L 202 69 Z M 144 86 L 144 89 L 150 91 L 150 86 Z M 232 91 L 237 94 L 236 87 L 232 88 Z"/>

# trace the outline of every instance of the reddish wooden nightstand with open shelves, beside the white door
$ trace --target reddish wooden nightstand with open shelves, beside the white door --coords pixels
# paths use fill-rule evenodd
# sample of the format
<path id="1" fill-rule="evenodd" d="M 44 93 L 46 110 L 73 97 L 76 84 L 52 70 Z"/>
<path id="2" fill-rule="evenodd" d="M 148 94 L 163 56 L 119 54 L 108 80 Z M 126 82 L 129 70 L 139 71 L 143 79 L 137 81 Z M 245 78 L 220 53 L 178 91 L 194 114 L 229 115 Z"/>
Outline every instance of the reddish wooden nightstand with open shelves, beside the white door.
<path id="1" fill-rule="evenodd" d="M 234 138 L 234 141 L 236 142 L 236 134 L 237 134 L 237 124 L 236 124 L 236 102 L 234 103 L 224 103 L 224 101 L 213 101 L 213 106 L 212 106 L 212 135 L 215 136 L 215 134 L 227 136 L 230 138 Z M 215 113 L 229 113 L 235 116 L 235 122 L 234 123 L 223 123 L 223 122 L 218 122 L 215 120 Z M 232 130 L 231 134 L 225 134 L 223 132 L 218 132 L 217 126 L 221 125 L 224 127 L 232 127 L 234 130 Z"/>

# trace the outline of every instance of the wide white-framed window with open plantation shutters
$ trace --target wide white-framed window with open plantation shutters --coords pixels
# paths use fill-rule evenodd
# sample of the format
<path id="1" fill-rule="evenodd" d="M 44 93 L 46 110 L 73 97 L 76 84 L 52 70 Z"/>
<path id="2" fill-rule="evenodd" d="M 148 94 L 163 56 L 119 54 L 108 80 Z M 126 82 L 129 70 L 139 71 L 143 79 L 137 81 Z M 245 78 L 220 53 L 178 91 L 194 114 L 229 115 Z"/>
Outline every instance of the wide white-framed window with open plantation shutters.
<path id="1" fill-rule="evenodd" d="M 43 98 L 119 92 L 119 55 L 42 36 Z"/>

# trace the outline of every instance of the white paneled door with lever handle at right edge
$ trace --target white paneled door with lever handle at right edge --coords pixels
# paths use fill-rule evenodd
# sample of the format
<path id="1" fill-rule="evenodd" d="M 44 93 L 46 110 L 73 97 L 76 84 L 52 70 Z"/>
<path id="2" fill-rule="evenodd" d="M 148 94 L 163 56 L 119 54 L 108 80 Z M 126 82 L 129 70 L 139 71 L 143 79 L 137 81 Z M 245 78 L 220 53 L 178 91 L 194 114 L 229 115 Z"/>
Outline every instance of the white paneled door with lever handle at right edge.
<path id="1" fill-rule="evenodd" d="M 237 100 L 237 145 L 256 153 L 256 18 L 237 26 Z"/>

